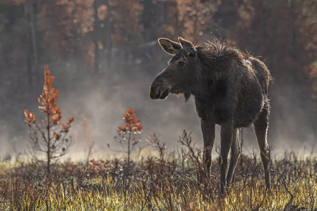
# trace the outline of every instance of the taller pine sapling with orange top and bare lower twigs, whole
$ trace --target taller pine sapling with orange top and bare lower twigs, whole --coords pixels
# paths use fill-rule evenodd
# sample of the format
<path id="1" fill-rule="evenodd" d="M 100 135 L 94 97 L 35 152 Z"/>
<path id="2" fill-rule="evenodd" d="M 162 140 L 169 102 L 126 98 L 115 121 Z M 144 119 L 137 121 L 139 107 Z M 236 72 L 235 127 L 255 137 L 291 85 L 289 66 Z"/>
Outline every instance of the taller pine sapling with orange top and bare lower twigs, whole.
<path id="1" fill-rule="evenodd" d="M 39 109 L 45 115 L 42 124 L 36 124 L 36 116 L 24 110 L 27 126 L 29 127 L 29 144 L 28 147 L 31 159 L 37 162 L 46 163 L 46 196 L 50 187 L 50 164 L 52 161 L 65 155 L 72 145 L 71 137 L 66 138 L 69 128 L 74 121 L 71 117 L 66 123 L 61 124 L 61 110 L 55 102 L 58 98 L 59 90 L 52 88 L 54 77 L 50 76 L 48 66 L 44 70 L 44 85 L 42 94 L 38 98 Z M 44 153 L 39 157 L 38 153 Z M 46 210 L 48 210 L 48 197 L 46 197 Z"/>

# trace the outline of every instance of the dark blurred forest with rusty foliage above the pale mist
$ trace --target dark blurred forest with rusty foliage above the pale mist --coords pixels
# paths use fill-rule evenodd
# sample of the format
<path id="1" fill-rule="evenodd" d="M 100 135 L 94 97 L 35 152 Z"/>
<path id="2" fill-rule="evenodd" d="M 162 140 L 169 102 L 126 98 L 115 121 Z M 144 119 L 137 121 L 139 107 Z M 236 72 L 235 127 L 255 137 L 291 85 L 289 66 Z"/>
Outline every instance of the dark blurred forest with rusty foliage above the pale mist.
<path id="1" fill-rule="evenodd" d="M 286 119 L 294 124 L 281 105 L 290 114 L 301 108 L 305 115 L 296 121 L 313 122 L 316 11 L 316 0 L 1 0 L 0 119 L 36 96 L 24 88 L 38 89 L 46 64 L 63 67 L 57 77 L 111 78 L 118 69 L 133 74 L 160 62 L 139 64 L 137 49 L 144 43 L 162 36 L 193 42 L 216 36 L 235 40 L 269 66 L 275 79 L 271 127 Z M 151 58 L 162 52 L 155 54 Z"/>

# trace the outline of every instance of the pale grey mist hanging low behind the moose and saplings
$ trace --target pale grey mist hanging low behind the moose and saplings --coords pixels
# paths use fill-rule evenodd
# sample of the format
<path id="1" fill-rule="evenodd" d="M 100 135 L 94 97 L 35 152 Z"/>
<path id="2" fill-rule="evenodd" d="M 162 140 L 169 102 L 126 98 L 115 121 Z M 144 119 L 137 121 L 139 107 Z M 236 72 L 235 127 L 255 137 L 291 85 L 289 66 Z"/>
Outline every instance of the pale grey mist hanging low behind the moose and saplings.
<path id="1" fill-rule="evenodd" d="M 141 65 L 138 71 L 117 70 L 110 77 L 106 77 L 103 74 L 102 77 L 96 78 L 92 77 L 89 74 L 89 70 L 87 70 L 87 74 L 81 75 L 79 78 L 76 77 L 77 73 L 74 73 L 74 75 L 69 73 L 68 77 L 65 77 L 63 67 L 54 66 L 54 64 L 49 66 L 51 75 L 55 76 L 53 87 L 60 89 L 57 103 L 62 111 L 62 122 L 67 121 L 70 116 L 75 118 L 69 133 L 74 141 L 74 146 L 71 147 L 69 155 L 74 158 L 82 158 L 85 154 L 84 151 L 89 146 L 87 128 L 80 131 L 81 134 L 84 134 L 83 136 L 81 135 L 74 139 L 74 133 L 81 130 L 78 128 L 78 123 L 84 116 L 90 118 L 91 121 L 92 135 L 95 142 L 93 152 L 101 157 L 107 157 L 109 153 L 118 154 L 109 151 L 107 144 L 110 144 L 113 149 L 120 149 L 120 145 L 113 141 L 113 136 L 118 135 L 116 127 L 122 125 L 122 114 L 128 108 L 135 110 L 136 117 L 141 119 L 141 125 L 144 128 L 142 134 L 134 135 L 142 138 L 140 146 L 146 145 L 144 138 L 148 138 L 149 133 L 156 133 L 160 135 L 161 141 L 166 142 L 168 150 L 176 149 L 179 147 L 177 140 L 178 136 L 182 134 L 183 128 L 187 132 L 192 132 L 192 137 L 197 146 L 202 146 L 203 140 L 193 97 L 187 103 L 184 102 L 182 96 L 170 95 L 166 100 L 152 100 L 149 97 L 149 87 L 152 80 L 165 68 L 168 59 L 171 57 L 170 55 L 165 55 L 163 50 L 160 49 L 158 42 L 154 41 L 150 44 L 151 48 L 154 49 L 153 52 L 156 52 L 156 55 L 160 55 L 161 59 L 158 65 L 155 65 L 157 61 L 154 61 L 155 64 L 152 66 L 153 62 L 151 60 L 154 59 L 142 55 L 146 51 L 141 53 L 143 56 L 141 57 L 143 59 L 142 62 L 146 63 L 146 65 L 144 65 L 145 68 L 142 68 Z M 106 54 L 101 53 L 101 60 L 106 57 Z M 120 55 L 113 59 L 120 62 Z M 70 65 L 75 65 L 75 63 L 76 60 L 70 61 Z M 107 67 L 102 67 L 100 72 L 107 72 Z M 272 75 L 274 77 L 274 74 Z M 42 78 L 44 78 L 44 75 Z M 276 83 L 278 82 L 275 80 L 274 85 Z M 271 86 L 274 85 L 271 84 Z M 37 96 L 40 95 L 41 89 L 41 86 L 36 87 Z M 28 89 L 25 89 L 24 92 L 28 92 Z M 278 102 L 271 102 L 272 106 L 277 107 L 274 110 L 278 111 L 278 114 L 271 112 L 271 119 L 278 123 L 275 123 L 275 128 L 270 127 L 268 129 L 268 143 L 275 148 L 272 152 L 273 154 L 283 153 L 284 150 L 294 150 L 295 152 L 303 153 L 305 147 L 307 147 L 306 153 L 310 153 L 311 147 L 309 146 L 314 141 L 312 126 L 309 123 L 306 125 L 301 123 L 302 119 L 305 119 L 303 109 L 297 107 L 295 111 L 289 111 L 289 99 L 287 97 L 291 94 L 290 92 L 279 93 Z M 270 88 L 269 96 L 274 95 L 277 95 L 277 93 L 273 93 Z M 34 112 L 38 120 L 40 117 L 43 118 L 37 108 L 37 97 L 29 99 L 25 109 Z M 281 116 L 281 119 L 276 118 L 275 115 Z M 15 117 L 12 121 L 15 121 L 14 124 L 18 125 L 19 129 L 10 127 L 10 124 L 6 124 L 5 121 L 1 122 L 1 141 L 3 144 L 1 154 L 13 152 L 10 141 L 15 143 L 17 150 L 22 153 L 24 153 L 28 144 L 28 132 L 26 124 L 23 122 L 23 110 L 16 111 L 12 116 Z M 258 152 L 253 127 L 243 130 L 243 138 L 243 153 L 252 153 L 252 149 Z M 241 131 L 239 140 L 241 143 Z M 213 154 L 216 154 L 215 146 L 219 144 L 220 127 L 216 127 Z"/>

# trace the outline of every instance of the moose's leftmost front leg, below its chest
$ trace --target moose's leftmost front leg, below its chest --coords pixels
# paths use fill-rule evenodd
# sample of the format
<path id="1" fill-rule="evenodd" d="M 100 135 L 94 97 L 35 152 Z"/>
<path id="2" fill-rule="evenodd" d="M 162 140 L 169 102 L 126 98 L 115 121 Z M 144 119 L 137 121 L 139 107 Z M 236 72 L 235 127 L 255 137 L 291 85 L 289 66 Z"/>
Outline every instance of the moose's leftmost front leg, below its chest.
<path id="1" fill-rule="evenodd" d="M 204 178 L 207 184 L 210 183 L 210 166 L 211 166 L 211 152 L 212 147 L 215 141 L 215 125 L 209 123 L 208 121 L 201 120 L 200 121 L 201 132 L 203 133 L 204 139 L 204 154 L 203 154 L 203 162 L 204 162 Z"/>

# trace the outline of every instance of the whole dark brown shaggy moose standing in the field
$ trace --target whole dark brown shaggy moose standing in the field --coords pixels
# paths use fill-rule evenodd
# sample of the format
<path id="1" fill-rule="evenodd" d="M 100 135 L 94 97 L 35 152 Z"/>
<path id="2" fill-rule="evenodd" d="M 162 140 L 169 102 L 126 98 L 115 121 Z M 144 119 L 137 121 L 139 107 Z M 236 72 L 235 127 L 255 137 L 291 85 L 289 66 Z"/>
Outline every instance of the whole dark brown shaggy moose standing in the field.
<path id="1" fill-rule="evenodd" d="M 272 78 L 267 66 L 249 53 L 240 51 L 230 41 L 211 39 L 199 45 L 182 37 L 178 41 L 158 40 L 163 50 L 173 57 L 152 81 L 151 99 L 166 99 L 169 94 L 175 94 L 183 95 L 188 102 L 191 96 L 194 97 L 204 140 L 206 181 L 210 181 L 215 125 L 221 127 L 218 159 L 221 195 L 226 195 L 230 189 L 241 153 L 238 131 L 253 124 L 266 189 L 271 189 L 267 144 L 270 103 L 267 94 Z"/>

